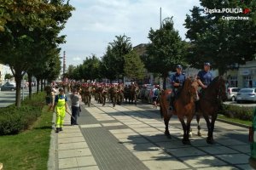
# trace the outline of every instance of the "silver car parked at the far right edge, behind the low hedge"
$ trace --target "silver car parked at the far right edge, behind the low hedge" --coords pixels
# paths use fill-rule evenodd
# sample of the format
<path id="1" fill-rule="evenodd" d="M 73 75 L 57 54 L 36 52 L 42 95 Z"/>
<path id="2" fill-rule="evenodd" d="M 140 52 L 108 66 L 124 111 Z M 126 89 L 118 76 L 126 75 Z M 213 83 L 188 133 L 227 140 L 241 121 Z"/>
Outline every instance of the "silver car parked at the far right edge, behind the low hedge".
<path id="1" fill-rule="evenodd" d="M 241 88 L 236 95 L 236 101 L 237 103 L 242 103 L 243 101 L 256 102 L 256 88 Z"/>

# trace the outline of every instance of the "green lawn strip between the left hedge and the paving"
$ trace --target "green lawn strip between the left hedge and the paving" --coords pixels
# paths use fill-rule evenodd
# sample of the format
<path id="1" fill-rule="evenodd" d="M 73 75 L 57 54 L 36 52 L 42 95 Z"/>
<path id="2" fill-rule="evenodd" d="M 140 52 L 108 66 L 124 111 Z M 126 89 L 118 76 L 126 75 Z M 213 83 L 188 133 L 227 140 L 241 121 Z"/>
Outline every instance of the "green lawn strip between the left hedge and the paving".
<path id="1" fill-rule="evenodd" d="M 0 137 L 0 162 L 3 169 L 47 169 L 52 114 L 44 107 L 31 129 Z"/>

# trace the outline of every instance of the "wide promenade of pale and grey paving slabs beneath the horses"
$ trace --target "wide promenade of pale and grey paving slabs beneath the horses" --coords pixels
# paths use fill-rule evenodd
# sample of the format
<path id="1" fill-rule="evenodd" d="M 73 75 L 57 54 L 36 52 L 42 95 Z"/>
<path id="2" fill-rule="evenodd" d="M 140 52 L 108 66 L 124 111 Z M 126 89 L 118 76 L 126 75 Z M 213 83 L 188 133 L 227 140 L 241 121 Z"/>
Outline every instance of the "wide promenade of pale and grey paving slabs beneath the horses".
<path id="1" fill-rule="evenodd" d="M 96 104 L 94 99 L 92 103 L 90 107 L 81 103 L 79 126 L 70 126 L 67 114 L 63 132 L 53 133 L 55 162 L 49 169 L 252 169 L 244 127 L 216 122 L 217 144 L 210 145 L 202 126 L 203 137 L 194 135 L 191 145 L 183 145 L 177 118 L 172 117 L 172 139 L 167 138 L 164 122 L 150 105 L 113 108 Z M 192 128 L 196 129 L 195 124 Z"/>

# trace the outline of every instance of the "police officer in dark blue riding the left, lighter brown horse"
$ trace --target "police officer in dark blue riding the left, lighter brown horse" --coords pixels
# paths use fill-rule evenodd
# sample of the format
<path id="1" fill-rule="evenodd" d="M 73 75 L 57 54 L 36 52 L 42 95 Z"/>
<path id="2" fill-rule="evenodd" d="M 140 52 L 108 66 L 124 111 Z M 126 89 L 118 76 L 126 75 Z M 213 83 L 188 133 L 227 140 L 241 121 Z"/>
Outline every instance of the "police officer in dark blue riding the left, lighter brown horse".
<path id="1" fill-rule="evenodd" d="M 169 111 L 175 111 L 174 99 L 177 98 L 177 95 L 180 92 L 180 89 L 183 87 L 183 83 L 186 80 L 186 77 L 185 77 L 184 73 L 182 72 L 182 70 L 183 70 L 182 65 L 177 65 L 176 73 L 171 78 L 172 94 L 171 94 L 171 99 L 170 99 Z"/>

